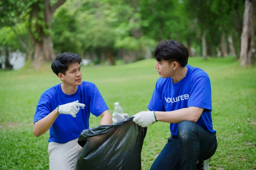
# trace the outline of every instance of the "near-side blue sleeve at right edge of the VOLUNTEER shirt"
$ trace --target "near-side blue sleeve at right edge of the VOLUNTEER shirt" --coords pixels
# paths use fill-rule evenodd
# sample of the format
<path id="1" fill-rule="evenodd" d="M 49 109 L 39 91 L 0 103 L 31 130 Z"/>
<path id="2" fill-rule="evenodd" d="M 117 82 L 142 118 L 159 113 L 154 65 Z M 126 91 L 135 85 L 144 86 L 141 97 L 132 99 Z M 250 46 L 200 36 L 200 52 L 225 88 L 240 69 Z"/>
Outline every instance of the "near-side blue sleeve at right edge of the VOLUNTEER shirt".
<path id="1" fill-rule="evenodd" d="M 212 111 L 211 83 L 207 75 L 196 77 L 192 82 L 188 107 L 204 108 L 203 112 Z"/>

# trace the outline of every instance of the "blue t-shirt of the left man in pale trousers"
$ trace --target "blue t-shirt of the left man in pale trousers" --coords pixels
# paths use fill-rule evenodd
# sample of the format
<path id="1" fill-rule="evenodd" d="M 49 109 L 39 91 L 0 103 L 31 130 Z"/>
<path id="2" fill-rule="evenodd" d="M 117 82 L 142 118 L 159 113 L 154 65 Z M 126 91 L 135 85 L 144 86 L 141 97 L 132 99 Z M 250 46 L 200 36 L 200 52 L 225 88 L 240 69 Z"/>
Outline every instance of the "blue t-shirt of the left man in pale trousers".
<path id="1" fill-rule="evenodd" d="M 66 143 L 78 138 L 82 130 L 89 128 L 90 113 L 99 116 L 108 110 L 108 106 L 95 84 L 82 82 L 76 93 L 72 95 L 64 94 L 61 90 L 61 84 L 58 84 L 41 95 L 35 111 L 34 124 L 51 113 L 58 105 L 75 102 L 76 100 L 83 103 L 85 107 L 79 107 L 75 118 L 69 114 L 58 115 L 50 127 L 49 142 Z"/>

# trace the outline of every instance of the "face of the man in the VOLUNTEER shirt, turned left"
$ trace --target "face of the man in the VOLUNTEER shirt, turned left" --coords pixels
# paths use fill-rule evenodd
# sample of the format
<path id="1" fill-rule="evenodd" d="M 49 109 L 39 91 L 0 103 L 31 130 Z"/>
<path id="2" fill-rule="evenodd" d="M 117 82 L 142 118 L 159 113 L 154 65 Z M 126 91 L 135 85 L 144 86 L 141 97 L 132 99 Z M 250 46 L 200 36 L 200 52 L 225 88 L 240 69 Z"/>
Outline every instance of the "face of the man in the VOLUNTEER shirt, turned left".
<path id="1" fill-rule="evenodd" d="M 157 68 L 157 72 L 162 78 L 172 77 L 173 69 L 172 66 L 166 60 L 157 61 L 155 68 Z"/>

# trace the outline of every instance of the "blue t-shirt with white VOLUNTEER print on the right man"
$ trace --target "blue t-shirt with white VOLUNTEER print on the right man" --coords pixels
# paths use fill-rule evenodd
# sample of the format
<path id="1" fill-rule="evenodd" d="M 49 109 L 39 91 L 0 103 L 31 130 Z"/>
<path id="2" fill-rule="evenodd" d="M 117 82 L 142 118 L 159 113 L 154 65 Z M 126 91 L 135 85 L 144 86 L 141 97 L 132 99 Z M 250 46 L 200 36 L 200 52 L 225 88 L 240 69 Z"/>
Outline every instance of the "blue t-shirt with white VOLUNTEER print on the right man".
<path id="1" fill-rule="evenodd" d="M 152 98 L 148 105 L 150 111 L 175 111 L 195 106 L 204 108 L 198 119 L 201 125 L 210 133 L 216 133 L 212 128 L 212 96 L 211 83 L 208 74 L 200 68 L 187 65 L 186 77 L 173 83 L 172 78 L 159 78 Z M 170 131 L 177 136 L 178 123 L 170 123 Z"/>

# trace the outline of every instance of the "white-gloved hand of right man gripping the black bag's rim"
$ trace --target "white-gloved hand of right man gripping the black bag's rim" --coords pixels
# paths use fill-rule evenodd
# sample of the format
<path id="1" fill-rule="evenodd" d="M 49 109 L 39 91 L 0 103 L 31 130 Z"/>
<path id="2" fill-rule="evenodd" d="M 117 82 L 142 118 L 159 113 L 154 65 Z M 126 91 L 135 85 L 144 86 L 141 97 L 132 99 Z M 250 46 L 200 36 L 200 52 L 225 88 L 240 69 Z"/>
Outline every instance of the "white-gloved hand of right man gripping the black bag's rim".
<path id="1" fill-rule="evenodd" d="M 148 127 L 154 122 L 157 122 L 154 111 L 141 111 L 135 114 L 132 120 L 141 127 Z"/>

